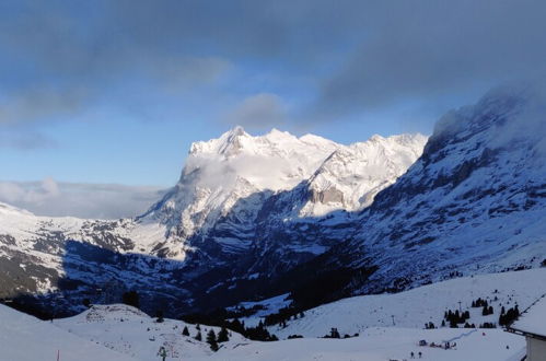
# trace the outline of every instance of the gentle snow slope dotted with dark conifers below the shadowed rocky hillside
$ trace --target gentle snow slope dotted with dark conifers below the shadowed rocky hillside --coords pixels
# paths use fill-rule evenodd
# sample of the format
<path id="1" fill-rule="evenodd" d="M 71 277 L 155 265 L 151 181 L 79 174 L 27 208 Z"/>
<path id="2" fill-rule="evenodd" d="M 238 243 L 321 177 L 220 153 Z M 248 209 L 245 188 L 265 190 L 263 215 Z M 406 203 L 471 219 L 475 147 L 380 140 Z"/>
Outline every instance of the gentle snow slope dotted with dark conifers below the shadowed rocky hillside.
<path id="1" fill-rule="evenodd" d="M 338 328 L 341 335 L 394 325 L 425 328 L 429 322 L 439 327 L 446 310 L 469 311 L 468 323 L 476 326 L 486 322 L 498 325 L 502 306 L 509 310 L 518 304 L 523 312 L 545 293 L 546 268 L 464 277 L 400 293 L 344 299 L 305 311 L 304 317 L 289 321 L 284 328 L 272 326 L 270 331 L 279 338 L 287 338 L 290 335 L 321 337 L 327 335 L 330 327 Z M 488 301 L 493 314 L 483 316 L 481 307 L 472 307 L 472 302 L 478 298 Z M 245 322 L 253 324 L 257 321 Z"/>

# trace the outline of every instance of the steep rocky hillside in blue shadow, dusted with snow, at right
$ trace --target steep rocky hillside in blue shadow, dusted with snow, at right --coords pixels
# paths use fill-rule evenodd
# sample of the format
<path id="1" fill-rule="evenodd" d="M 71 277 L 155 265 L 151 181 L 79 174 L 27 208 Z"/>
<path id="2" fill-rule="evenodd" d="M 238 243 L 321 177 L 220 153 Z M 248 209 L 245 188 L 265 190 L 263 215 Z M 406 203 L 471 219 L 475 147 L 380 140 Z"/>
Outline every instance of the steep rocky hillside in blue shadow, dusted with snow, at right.
<path id="1" fill-rule="evenodd" d="M 546 97 L 497 90 L 446 114 L 422 156 L 361 212 L 351 255 L 373 265 L 356 293 L 538 267 L 546 259 Z"/>

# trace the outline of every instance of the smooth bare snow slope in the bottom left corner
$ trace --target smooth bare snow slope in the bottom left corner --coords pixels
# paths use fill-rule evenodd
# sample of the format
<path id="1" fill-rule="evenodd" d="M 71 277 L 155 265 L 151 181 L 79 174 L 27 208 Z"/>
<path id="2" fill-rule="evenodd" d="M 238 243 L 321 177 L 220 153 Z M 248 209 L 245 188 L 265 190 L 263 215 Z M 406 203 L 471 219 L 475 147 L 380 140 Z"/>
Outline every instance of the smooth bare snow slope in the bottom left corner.
<path id="1" fill-rule="evenodd" d="M 0 359 L 129 361 L 132 358 L 0 304 Z M 57 359 L 59 356 L 59 359 Z"/>

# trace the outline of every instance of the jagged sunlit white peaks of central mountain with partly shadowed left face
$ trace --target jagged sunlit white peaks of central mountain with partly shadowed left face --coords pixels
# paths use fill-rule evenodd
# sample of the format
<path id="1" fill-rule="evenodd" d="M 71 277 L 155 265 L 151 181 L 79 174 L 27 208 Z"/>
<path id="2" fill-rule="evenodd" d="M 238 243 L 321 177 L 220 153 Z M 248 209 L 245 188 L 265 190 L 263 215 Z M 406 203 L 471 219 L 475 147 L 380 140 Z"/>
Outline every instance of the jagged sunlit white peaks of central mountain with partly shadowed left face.
<path id="1" fill-rule="evenodd" d="M 194 143 L 178 184 L 139 222 L 167 229 L 166 245 L 152 254 L 181 259 L 188 251 L 207 249 L 212 258 L 240 255 L 255 246 L 257 232 L 267 237 L 257 224 L 272 216 L 264 207 L 269 199 L 304 191 L 276 214 L 283 220 L 360 210 L 406 172 L 426 141 L 421 135 L 374 136 L 342 145 L 276 129 L 252 137 L 236 127 L 219 139 Z M 307 241 L 307 248 L 315 246 Z"/>

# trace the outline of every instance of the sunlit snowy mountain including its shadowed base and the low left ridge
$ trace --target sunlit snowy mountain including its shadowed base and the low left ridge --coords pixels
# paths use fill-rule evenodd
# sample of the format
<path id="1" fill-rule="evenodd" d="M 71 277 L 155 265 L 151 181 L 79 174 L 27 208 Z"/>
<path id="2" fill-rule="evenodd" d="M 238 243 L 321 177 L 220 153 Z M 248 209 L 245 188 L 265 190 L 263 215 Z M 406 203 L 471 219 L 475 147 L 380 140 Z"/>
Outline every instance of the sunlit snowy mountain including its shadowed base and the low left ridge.
<path id="1" fill-rule="evenodd" d="M 279 275 L 344 240 L 350 211 L 394 183 L 425 142 L 374 136 L 342 145 L 237 127 L 194 143 L 177 185 L 137 219 L 46 218 L 0 205 L 0 263 L 10 270 L 0 298 L 39 293 L 47 302 L 61 291 L 56 302 L 81 310 L 84 299 L 146 289 L 144 307 L 158 298 L 173 312 L 198 307 L 212 290 Z"/>

